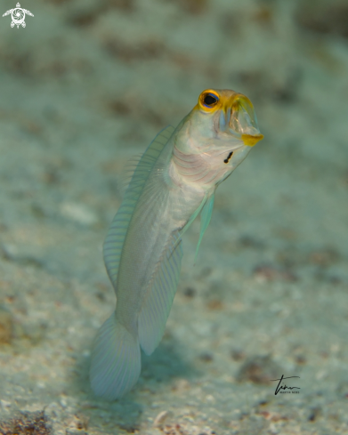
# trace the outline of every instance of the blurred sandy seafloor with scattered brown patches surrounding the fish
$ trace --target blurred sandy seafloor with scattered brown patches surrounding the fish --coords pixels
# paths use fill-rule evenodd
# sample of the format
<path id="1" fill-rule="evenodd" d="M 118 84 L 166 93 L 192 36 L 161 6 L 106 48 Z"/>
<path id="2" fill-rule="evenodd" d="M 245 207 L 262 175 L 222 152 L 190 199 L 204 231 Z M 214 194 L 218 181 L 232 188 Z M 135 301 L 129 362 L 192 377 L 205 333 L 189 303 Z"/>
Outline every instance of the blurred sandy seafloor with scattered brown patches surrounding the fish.
<path id="1" fill-rule="evenodd" d="M 0 433 L 348 434 L 346 2 L 21 6 L 26 28 L 0 20 Z M 109 403 L 88 367 L 120 173 L 205 88 L 246 93 L 264 140 L 196 265 L 185 234 L 164 339 Z"/>

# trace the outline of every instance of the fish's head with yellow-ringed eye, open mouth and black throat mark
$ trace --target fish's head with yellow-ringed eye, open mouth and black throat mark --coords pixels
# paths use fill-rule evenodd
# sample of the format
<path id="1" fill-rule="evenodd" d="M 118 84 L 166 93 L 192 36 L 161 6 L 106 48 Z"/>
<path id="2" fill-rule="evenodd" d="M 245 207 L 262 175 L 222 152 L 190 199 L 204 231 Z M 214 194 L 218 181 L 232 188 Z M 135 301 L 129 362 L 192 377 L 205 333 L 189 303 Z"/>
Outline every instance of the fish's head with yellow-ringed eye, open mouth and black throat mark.
<path id="1" fill-rule="evenodd" d="M 177 149 L 202 157 L 217 174 L 215 184 L 225 180 L 263 139 L 252 102 L 231 90 L 203 91 L 180 130 Z"/>

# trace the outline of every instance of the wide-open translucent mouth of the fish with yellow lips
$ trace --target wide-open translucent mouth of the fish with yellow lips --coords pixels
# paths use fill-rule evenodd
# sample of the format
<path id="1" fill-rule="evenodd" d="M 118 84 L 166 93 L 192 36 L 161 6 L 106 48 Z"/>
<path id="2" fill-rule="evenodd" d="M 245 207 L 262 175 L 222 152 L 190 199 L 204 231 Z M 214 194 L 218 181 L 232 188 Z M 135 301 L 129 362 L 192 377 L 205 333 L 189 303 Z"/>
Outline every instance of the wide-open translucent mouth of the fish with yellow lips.
<path id="1" fill-rule="evenodd" d="M 220 112 L 219 124 L 221 131 L 228 131 L 248 147 L 254 147 L 263 139 L 253 104 L 245 95 L 237 94 L 226 103 Z"/>

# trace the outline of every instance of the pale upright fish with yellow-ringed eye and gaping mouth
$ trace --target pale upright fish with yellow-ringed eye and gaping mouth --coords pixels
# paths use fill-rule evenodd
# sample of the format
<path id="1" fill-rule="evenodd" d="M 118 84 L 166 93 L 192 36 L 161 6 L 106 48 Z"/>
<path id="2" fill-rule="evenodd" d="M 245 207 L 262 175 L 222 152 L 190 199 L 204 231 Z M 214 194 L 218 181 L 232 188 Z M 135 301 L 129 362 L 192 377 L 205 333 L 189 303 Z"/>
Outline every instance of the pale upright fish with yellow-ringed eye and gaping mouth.
<path id="1" fill-rule="evenodd" d="M 90 381 L 107 400 L 123 397 L 162 339 L 182 263 L 182 235 L 200 214 L 198 247 L 219 184 L 263 139 L 247 96 L 207 89 L 174 128 L 162 130 L 135 165 L 103 245 L 116 310 L 98 331 Z"/>

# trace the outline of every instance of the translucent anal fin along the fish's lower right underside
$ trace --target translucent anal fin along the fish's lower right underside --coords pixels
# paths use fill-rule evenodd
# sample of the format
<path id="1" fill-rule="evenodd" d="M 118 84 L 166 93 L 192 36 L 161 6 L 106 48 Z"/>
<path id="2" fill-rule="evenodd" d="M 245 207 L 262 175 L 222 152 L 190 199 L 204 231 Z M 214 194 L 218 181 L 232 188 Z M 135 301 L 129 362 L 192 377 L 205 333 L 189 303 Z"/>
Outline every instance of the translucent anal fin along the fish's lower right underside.
<path id="1" fill-rule="evenodd" d="M 147 355 L 158 347 L 165 332 L 182 266 L 181 242 L 179 233 L 170 240 L 138 318 L 139 341 Z"/>

